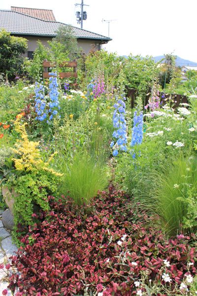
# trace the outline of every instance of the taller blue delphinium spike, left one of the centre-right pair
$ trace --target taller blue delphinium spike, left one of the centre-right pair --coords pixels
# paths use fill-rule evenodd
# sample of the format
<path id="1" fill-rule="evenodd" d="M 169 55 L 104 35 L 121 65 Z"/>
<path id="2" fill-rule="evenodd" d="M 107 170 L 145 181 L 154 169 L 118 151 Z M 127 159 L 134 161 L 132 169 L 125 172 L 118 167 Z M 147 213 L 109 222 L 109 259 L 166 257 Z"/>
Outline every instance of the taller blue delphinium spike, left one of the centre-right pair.
<path id="1" fill-rule="evenodd" d="M 113 126 L 115 131 L 112 136 L 117 139 L 116 143 L 111 142 L 110 147 L 114 148 L 113 155 L 118 155 L 118 150 L 127 151 L 127 125 L 125 120 L 125 102 L 126 98 L 124 95 L 121 95 L 121 99 L 116 95 L 116 103 L 114 104 L 114 113 L 113 113 Z"/>

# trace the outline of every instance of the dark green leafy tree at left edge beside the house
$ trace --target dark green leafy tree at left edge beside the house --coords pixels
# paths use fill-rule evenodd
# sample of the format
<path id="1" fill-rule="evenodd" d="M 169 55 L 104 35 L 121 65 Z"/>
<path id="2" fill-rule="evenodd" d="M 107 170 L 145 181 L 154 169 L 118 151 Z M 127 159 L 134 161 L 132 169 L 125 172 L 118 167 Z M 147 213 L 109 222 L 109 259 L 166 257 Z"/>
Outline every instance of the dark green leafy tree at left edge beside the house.
<path id="1" fill-rule="evenodd" d="M 0 31 L 0 73 L 9 80 L 23 74 L 24 58 L 22 54 L 28 48 L 27 39 L 10 36 L 5 30 Z"/>

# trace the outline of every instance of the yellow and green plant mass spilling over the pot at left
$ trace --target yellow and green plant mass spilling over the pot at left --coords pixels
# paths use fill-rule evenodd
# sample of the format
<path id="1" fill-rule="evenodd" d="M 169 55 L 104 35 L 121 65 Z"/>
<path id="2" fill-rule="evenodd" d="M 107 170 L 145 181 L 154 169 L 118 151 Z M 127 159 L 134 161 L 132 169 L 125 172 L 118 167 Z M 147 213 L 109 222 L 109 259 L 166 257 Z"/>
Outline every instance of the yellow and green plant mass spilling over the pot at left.
<path id="1" fill-rule="evenodd" d="M 32 215 L 39 209 L 48 210 L 47 195 L 57 190 L 57 185 L 62 174 L 50 167 L 54 157 L 52 154 L 47 162 L 44 162 L 39 142 L 29 141 L 25 123 L 22 122 L 23 114 L 19 114 L 14 122 L 15 132 L 19 139 L 12 148 L 15 157 L 13 160 L 12 175 L 6 182 L 9 189 L 14 187 L 14 222 L 15 236 L 17 237 L 17 225 L 32 224 Z"/>

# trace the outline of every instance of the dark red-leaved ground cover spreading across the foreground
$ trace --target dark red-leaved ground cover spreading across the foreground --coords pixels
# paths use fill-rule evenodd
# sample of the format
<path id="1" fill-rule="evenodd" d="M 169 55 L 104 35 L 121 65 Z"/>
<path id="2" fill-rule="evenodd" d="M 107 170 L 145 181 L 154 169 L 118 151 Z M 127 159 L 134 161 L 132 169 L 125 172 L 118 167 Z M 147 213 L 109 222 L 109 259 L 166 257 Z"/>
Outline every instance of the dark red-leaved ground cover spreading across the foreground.
<path id="1" fill-rule="evenodd" d="M 34 224 L 22 239 L 25 248 L 12 258 L 20 275 L 10 277 L 9 287 L 19 288 L 18 295 L 83 295 L 88 289 L 130 296 L 136 294 L 134 281 L 142 271 L 159 283 L 162 273 L 168 273 L 173 290 L 188 272 L 187 261 L 194 263 L 188 237 L 166 241 L 160 231 L 144 228 L 146 215 L 138 214 L 131 198 L 112 186 L 85 210 L 69 198 L 55 202 L 49 197 L 49 202 L 51 212 L 40 214 L 42 222 Z M 170 266 L 161 269 L 164 259 Z M 190 273 L 195 275 L 195 265 Z"/>

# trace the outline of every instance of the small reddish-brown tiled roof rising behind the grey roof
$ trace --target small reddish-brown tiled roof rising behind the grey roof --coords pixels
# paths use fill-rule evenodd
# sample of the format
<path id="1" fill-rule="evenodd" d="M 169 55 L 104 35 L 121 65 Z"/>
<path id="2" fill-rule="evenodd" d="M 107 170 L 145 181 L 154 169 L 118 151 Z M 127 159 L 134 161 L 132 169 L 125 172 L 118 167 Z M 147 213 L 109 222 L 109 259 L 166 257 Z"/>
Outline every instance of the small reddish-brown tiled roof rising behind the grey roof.
<path id="1" fill-rule="evenodd" d="M 49 9 L 36 9 L 36 8 L 26 8 L 26 7 L 15 7 L 11 6 L 11 10 L 21 12 L 44 21 L 54 21 L 56 22 L 53 10 Z"/>

